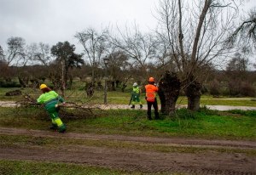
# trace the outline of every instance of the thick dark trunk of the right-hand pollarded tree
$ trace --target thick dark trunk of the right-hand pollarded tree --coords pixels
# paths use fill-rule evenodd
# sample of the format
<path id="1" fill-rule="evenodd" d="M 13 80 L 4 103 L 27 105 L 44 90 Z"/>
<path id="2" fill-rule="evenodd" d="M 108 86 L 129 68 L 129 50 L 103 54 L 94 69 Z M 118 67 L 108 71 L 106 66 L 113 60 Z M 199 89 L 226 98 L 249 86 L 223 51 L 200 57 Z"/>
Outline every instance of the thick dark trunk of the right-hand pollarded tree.
<path id="1" fill-rule="evenodd" d="M 185 93 L 188 98 L 188 110 L 196 111 L 200 108 L 201 83 L 194 76 L 190 76 L 186 83 Z"/>

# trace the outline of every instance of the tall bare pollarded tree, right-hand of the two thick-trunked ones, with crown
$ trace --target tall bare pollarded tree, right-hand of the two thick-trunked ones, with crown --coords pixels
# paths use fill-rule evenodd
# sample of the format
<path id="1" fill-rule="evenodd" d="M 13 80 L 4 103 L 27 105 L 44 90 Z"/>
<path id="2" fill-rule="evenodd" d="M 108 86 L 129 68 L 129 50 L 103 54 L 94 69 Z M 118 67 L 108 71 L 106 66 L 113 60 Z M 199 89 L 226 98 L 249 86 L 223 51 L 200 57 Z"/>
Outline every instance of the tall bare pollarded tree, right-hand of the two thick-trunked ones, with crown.
<path id="1" fill-rule="evenodd" d="M 166 37 L 170 55 L 177 66 L 177 78 L 188 97 L 188 109 L 198 110 L 205 65 L 225 58 L 225 37 L 233 28 L 237 8 L 221 0 L 160 0 L 158 33 Z M 172 107 L 173 109 L 173 107 Z"/>

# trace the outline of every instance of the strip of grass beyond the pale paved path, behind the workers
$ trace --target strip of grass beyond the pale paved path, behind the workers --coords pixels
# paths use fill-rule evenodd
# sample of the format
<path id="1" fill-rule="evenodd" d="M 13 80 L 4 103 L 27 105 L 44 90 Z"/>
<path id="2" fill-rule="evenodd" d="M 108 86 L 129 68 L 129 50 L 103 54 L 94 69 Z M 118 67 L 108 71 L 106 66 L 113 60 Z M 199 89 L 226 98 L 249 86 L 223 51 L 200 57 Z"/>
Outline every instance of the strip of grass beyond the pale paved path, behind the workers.
<path id="1" fill-rule="evenodd" d="M 5 93 L 13 91 L 19 88 L 0 88 L 0 101 L 19 101 L 23 100 L 23 96 L 6 96 Z M 41 94 L 39 89 L 32 91 L 31 88 L 24 88 L 21 90 L 22 93 L 28 93 L 34 99 L 38 99 Z M 61 94 L 60 91 L 57 93 Z M 145 93 L 141 94 L 141 101 L 143 104 L 147 104 L 144 99 Z M 108 104 L 129 104 L 131 98 L 131 88 L 125 89 L 125 93 L 121 93 L 120 89 L 117 88 L 117 91 L 107 92 Z M 95 91 L 93 97 L 87 97 L 87 94 L 84 90 L 67 90 L 66 92 L 66 101 L 75 102 L 75 103 L 90 103 L 90 104 L 103 104 L 104 102 L 104 92 Z M 256 106 L 256 101 L 252 101 L 253 97 L 244 97 L 244 98 L 212 98 L 209 95 L 201 96 L 201 105 L 236 105 L 236 106 Z M 160 104 L 160 99 L 158 98 Z M 188 104 L 188 99 L 185 96 L 181 96 L 177 99 L 176 104 Z"/>

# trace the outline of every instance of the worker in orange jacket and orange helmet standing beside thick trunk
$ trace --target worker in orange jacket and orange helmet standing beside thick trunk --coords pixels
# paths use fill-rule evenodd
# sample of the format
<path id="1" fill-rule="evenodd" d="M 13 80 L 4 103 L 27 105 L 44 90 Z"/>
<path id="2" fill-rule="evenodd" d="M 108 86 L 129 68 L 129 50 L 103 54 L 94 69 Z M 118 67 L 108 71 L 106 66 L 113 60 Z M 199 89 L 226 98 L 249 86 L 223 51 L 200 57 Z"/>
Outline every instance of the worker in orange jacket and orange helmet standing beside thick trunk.
<path id="1" fill-rule="evenodd" d="M 159 112 L 158 112 L 158 104 L 156 100 L 156 93 L 158 92 L 158 88 L 154 86 L 154 78 L 150 77 L 148 79 L 148 85 L 145 86 L 146 89 L 146 100 L 148 104 L 148 120 L 152 120 L 151 118 L 151 106 L 154 107 L 154 117 L 155 119 L 159 119 Z"/>

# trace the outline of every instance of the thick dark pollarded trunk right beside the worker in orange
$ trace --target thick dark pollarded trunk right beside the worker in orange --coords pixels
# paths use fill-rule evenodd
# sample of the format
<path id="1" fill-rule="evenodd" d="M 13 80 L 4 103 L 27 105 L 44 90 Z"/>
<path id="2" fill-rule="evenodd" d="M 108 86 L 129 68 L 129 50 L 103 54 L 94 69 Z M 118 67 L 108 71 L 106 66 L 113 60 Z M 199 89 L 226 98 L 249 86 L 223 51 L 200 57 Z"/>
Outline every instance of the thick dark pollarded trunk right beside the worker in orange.
<path id="1" fill-rule="evenodd" d="M 175 73 L 166 71 L 166 74 L 159 82 L 159 97 L 161 112 L 170 115 L 175 112 L 175 105 L 178 98 L 181 83 Z"/>

